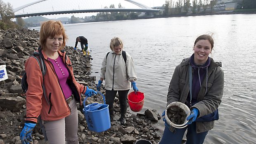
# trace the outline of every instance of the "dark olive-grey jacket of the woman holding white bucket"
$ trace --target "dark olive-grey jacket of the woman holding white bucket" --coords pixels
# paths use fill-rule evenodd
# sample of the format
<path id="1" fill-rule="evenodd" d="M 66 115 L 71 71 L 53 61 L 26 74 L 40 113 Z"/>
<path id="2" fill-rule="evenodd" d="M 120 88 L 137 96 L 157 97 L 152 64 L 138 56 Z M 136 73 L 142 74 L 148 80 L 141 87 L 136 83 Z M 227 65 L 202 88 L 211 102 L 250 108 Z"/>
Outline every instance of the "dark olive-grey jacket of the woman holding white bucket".
<path id="1" fill-rule="evenodd" d="M 224 73 L 220 68 L 221 63 L 214 62 L 212 58 L 211 64 L 208 67 L 208 83 L 206 89 L 206 77 L 204 77 L 201 89 L 199 90 L 197 102 L 192 108 L 199 110 L 198 118 L 209 113 L 213 113 L 221 103 L 224 89 Z M 189 64 L 190 57 L 183 59 L 183 61 L 176 66 L 173 77 L 171 79 L 168 94 L 167 105 L 172 102 L 185 103 L 190 92 L 189 86 Z M 193 69 L 193 68 L 192 68 Z M 192 75 L 194 71 L 192 70 Z M 207 90 L 207 91 L 206 91 Z M 199 132 L 206 132 L 213 128 L 214 121 L 211 122 L 196 122 L 196 130 Z"/>

